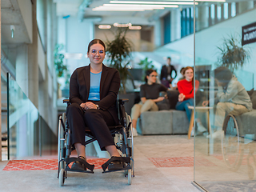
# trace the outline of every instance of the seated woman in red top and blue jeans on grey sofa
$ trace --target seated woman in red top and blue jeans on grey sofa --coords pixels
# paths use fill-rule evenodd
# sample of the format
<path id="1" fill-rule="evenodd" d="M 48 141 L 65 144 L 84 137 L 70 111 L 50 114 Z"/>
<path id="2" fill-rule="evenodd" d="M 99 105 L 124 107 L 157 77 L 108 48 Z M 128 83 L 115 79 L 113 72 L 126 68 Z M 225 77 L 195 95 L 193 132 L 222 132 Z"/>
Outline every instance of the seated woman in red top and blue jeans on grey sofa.
<path id="1" fill-rule="evenodd" d="M 184 79 L 178 81 L 178 102 L 175 106 L 176 110 L 186 110 L 186 116 L 190 122 L 191 110 L 188 106 L 194 105 L 194 90 L 198 90 L 199 82 L 195 80 L 194 87 L 194 69 L 187 66 L 184 70 Z"/>

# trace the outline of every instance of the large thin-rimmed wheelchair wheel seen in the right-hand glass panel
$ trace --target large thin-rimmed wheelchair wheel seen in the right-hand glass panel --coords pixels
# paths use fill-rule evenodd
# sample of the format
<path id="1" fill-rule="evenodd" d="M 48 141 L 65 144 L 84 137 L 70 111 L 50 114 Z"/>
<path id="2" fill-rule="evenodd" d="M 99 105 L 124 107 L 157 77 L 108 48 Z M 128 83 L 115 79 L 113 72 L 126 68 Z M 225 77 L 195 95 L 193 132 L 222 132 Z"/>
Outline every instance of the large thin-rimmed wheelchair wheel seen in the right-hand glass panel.
<path id="1" fill-rule="evenodd" d="M 222 127 L 222 156 L 230 170 L 238 170 L 243 158 L 242 141 L 239 136 L 238 122 L 233 114 L 228 114 Z"/>

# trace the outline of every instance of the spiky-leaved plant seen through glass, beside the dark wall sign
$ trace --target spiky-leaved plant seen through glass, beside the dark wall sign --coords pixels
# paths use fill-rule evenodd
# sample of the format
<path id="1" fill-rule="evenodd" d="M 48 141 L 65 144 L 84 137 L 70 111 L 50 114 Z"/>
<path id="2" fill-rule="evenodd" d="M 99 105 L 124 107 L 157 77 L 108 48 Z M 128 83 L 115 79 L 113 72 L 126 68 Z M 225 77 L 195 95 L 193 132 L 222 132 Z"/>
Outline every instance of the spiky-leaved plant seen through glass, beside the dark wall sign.
<path id="1" fill-rule="evenodd" d="M 250 52 L 240 45 L 241 41 L 232 35 L 230 38 L 224 38 L 223 45 L 217 46 L 218 50 L 221 51 L 218 63 L 232 71 L 242 68 L 244 62 L 250 59 Z"/>

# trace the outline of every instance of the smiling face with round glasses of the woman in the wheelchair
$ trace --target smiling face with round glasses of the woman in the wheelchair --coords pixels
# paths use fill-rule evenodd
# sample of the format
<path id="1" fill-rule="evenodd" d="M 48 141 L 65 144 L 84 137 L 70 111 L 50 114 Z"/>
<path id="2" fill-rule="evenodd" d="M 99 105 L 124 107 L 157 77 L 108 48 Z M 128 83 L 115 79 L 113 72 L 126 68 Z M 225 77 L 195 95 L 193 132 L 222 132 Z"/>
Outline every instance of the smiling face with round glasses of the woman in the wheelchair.
<path id="1" fill-rule="evenodd" d="M 87 53 L 87 57 L 90 59 L 91 65 L 102 64 L 105 58 L 104 46 L 98 43 L 90 46 L 90 50 Z"/>

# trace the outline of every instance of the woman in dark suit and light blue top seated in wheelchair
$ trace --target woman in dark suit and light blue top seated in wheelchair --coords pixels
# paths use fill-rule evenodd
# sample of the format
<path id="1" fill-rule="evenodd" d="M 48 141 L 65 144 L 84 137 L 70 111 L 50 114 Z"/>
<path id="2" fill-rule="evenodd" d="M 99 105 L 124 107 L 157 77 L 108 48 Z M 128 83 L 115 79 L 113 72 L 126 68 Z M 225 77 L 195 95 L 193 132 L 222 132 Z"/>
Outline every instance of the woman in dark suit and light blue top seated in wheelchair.
<path id="1" fill-rule="evenodd" d="M 86 127 L 97 139 L 101 150 L 107 150 L 111 157 L 120 157 L 108 126 L 118 124 L 115 102 L 120 86 L 118 70 L 103 65 L 106 46 L 100 39 L 88 45 L 89 66 L 74 70 L 70 78 L 70 105 L 66 114 L 71 131 L 71 144 L 78 158 L 86 160 Z M 121 170 L 122 161 L 110 162 L 109 170 Z M 86 170 L 81 162 L 74 162 L 74 170 Z"/>

